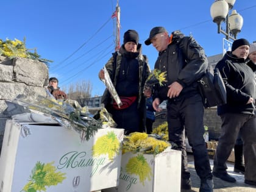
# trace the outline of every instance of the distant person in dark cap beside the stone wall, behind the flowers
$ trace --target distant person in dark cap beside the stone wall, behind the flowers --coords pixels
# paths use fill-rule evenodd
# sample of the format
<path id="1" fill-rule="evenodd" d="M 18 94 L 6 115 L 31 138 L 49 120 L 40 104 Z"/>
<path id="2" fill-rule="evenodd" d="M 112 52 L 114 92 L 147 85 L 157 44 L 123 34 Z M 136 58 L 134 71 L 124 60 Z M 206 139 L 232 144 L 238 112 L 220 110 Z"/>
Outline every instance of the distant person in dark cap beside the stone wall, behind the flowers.
<path id="1" fill-rule="evenodd" d="M 54 96 L 55 99 L 68 99 L 68 96 L 64 91 L 61 91 L 58 87 L 59 80 L 56 77 L 51 77 L 49 79 L 48 90 Z"/>

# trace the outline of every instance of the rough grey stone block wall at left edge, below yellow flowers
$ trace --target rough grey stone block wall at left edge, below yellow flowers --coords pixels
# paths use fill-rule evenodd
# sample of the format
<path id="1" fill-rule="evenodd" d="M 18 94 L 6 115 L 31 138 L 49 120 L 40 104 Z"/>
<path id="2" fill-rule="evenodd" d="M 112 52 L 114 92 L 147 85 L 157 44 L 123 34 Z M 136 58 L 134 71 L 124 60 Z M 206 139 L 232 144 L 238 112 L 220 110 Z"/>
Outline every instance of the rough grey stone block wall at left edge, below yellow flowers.
<path id="1" fill-rule="evenodd" d="M 4 113 L 5 101 L 12 101 L 18 94 L 46 96 L 49 71 L 45 63 L 37 60 L 0 56 L 0 151 L 5 121 L 11 116 Z"/>

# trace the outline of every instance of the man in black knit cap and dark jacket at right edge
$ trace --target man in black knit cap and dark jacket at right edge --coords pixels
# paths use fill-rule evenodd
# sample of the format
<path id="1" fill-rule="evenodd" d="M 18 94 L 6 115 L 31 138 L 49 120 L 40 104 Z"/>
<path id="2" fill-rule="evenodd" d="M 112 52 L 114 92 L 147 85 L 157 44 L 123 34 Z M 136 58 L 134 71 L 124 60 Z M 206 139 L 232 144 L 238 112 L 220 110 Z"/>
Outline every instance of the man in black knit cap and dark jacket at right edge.
<path id="1" fill-rule="evenodd" d="M 249 45 L 244 38 L 233 41 L 232 51 L 227 51 L 216 65 L 226 85 L 227 104 L 218 106 L 222 133 L 215 153 L 213 175 L 236 182 L 227 173 L 226 161 L 240 132 L 244 145 L 244 183 L 256 185 L 256 84 L 255 66 L 247 65 Z"/>

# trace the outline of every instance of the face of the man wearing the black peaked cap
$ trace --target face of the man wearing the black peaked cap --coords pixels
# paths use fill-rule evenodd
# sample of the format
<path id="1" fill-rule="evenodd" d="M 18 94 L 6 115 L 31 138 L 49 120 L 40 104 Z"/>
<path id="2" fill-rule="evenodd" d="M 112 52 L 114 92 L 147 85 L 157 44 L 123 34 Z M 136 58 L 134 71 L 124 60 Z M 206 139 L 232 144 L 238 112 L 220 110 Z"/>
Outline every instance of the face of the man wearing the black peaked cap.
<path id="1" fill-rule="evenodd" d="M 168 34 L 166 32 L 155 35 L 151 39 L 152 45 L 157 51 L 164 51 L 168 46 Z"/>

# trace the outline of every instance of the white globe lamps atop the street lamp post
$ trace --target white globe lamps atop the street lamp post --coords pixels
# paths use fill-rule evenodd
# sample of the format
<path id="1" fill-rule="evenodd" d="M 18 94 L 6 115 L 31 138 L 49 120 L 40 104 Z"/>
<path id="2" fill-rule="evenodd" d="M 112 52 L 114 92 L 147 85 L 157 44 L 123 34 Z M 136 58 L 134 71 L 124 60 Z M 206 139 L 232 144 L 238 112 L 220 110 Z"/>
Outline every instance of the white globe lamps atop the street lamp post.
<path id="1" fill-rule="evenodd" d="M 232 10 L 229 16 L 229 10 L 233 8 L 234 4 L 235 0 L 216 0 L 210 9 L 213 22 L 218 25 L 218 34 L 224 34 L 227 40 L 230 38 L 236 40 L 236 35 L 241 32 L 243 26 L 243 17 L 236 13 L 236 10 Z M 226 30 L 221 28 L 223 21 L 226 23 Z"/>

